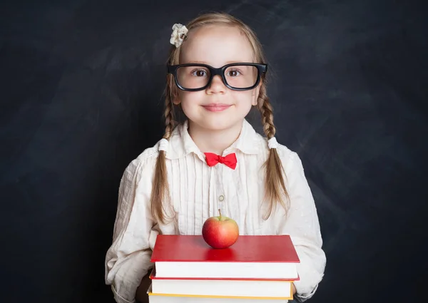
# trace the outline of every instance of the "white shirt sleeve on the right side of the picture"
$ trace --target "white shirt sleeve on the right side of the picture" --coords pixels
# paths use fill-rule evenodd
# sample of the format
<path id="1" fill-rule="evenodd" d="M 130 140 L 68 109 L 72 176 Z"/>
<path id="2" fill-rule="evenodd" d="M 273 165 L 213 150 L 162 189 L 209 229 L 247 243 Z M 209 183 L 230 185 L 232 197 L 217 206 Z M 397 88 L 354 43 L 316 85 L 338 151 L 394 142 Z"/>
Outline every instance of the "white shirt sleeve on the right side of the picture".
<path id="1" fill-rule="evenodd" d="M 290 235 L 300 265 L 297 266 L 300 280 L 294 282 L 295 299 L 304 302 L 315 294 L 324 276 L 326 257 L 322 250 L 320 223 L 312 192 L 305 178 L 302 161 L 292 153 L 287 161 L 287 190 L 290 207 L 287 217 L 280 223 L 280 234 Z"/>

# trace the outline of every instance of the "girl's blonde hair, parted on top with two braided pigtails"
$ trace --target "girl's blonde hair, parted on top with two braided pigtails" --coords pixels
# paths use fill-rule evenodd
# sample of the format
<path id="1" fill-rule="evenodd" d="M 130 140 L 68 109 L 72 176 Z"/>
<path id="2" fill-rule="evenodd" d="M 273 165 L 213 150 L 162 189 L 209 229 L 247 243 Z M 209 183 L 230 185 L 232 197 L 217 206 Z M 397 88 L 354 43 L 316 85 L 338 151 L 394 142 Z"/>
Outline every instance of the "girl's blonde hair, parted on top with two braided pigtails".
<path id="1" fill-rule="evenodd" d="M 211 24 L 235 26 L 240 29 L 240 31 L 248 38 L 248 41 L 253 48 L 255 62 L 266 62 L 263 48 L 254 32 L 242 21 L 236 19 L 233 16 L 230 16 L 229 14 L 203 14 L 193 19 L 193 21 L 190 21 L 186 27 L 190 32 L 192 29 Z M 185 43 L 185 41 L 183 43 Z M 179 63 L 180 49 L 180 46 L 178 48 L 172 46 L 168 63 L 171 65 Z M 176 96 L 178 96 L 178 89 L 179 88 L 175 86 L 173 75 L 168 74 L 165 88 L 165 135 L 163 135 L 163 138 L 167 140 L 170 138 L 170 135 L 175 128 L 173 101 Z M 265 135 L 268 139 L 270 139 L 275 136 L 276 130 L 275 125 L 273 124 L 272 105 L 270 104 L 269 98 L 266 94 L 265 74 L 262 75 L 261 79 L 257 107 L 262 116 L 263 130 Z M 263 167 L 265 168 L 265 201 L 267 201 L 269 206 L 267 214 L 265 215 L 265 219 L 267 219 L 277 203 L 280 203 L 283 207 L 285 207 L 283 198 L 288 198 L 284 182 L 285 175 L 282 175 L 284 170 L 282 168 L 282 163 L 276 148 L 270 149 L 269 157 L 267 158 L 267 161 Z M 159 150 L 151 195 L 151 211 L 153 218 L 156 218 L 160 222 L 165 222 L 164 200 L 165 197 L 170 197 L 166 173 L 165 151 Z"/>

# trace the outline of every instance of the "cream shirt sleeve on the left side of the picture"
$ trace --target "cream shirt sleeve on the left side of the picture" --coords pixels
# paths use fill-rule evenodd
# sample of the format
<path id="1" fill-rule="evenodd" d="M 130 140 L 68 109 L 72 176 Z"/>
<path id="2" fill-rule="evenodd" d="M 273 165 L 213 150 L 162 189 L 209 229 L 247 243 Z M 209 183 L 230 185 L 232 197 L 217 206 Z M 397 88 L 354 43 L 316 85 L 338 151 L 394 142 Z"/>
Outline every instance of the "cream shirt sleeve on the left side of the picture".
<path id="1" fill-rule="evenodd" d="M 151 267 L 156 231 L 150 210 L 153 163 L 133 160 L 121 179 L 113 243 L 106 253 L 106 284 L 118 303 L 136 302 L 136 289 Z"/>

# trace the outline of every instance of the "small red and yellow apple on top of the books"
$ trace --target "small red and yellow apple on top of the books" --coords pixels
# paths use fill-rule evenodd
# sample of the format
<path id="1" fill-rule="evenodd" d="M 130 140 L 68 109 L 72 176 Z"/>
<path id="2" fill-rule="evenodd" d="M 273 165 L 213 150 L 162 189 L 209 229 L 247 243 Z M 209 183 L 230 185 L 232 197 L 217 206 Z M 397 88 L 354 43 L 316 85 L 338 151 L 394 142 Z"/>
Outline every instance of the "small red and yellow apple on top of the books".
<path id="1" fill-rule="evenodd" d="M 213 248 L 226 248 L 238 240 L 239 228 L 235 220 L 224 217 L 218 210 L 218 217 L 209 217 L 203 223 L 203 240 Z"/>

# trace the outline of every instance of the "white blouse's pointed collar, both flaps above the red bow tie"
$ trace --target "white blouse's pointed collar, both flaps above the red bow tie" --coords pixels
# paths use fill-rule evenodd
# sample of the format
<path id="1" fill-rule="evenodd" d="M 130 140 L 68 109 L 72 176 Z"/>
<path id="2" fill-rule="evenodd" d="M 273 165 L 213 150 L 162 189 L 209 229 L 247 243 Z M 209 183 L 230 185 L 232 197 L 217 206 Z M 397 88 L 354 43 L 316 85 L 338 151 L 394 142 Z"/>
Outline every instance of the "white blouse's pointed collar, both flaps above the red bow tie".
<path id="1" fill-rule="evenodd" d="M 235 142 L 225 150 L 225 154 L 233 153 L 235 150 L 240 150 L 242 153 L 253 155 L 260 150 L 260 140 L 258 133 L 255 132 L 253 126 L 246 119 L 243 120 L 243 127 L 240 135 Z M 188 133 L 188 120 L 178 125 L 171 134 L 166 151 L 166 158 L 173 160 L 185 157 L 189 153 L 195 153 L 199 158 L 204 159 L 203 153 L 196 146 L 193 139 Z"/>

